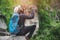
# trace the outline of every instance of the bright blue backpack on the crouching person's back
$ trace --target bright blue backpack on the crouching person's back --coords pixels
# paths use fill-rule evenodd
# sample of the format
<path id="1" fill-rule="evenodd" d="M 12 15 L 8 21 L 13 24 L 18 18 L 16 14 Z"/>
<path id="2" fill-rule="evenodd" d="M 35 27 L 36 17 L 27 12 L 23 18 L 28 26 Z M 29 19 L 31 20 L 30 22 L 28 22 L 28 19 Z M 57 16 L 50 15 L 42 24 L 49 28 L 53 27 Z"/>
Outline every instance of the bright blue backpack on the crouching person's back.
<path id="1" fill-rule="evenodd" d="M 18 28 L 18 21 L 19 21 L 19 14 L 18 13 L 14 13 L 13 16 L 10 19 L 10 23 L 9 23 L 9 32 L 12 34 L 17 34 L 19 32 Z"/>

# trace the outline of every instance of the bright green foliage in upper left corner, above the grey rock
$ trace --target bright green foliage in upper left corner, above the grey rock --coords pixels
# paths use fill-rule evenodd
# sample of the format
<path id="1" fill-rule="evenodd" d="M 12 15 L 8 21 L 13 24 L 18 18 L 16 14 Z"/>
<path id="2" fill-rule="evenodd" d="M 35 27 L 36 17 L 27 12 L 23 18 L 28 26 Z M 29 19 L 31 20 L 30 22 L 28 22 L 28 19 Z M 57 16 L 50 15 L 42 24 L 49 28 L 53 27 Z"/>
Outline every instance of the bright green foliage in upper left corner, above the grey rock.
<path id="1" fill-rule="evenodd" d="M 5 15 L 5 17 L 7 18 L 6 24 L 8 26 L 10 17 L 13 12 L 12 7 L 11 7 L 11 3 L 9 2 L 9 0 L 0 0 L 0 12 L 3 15 Z"/>

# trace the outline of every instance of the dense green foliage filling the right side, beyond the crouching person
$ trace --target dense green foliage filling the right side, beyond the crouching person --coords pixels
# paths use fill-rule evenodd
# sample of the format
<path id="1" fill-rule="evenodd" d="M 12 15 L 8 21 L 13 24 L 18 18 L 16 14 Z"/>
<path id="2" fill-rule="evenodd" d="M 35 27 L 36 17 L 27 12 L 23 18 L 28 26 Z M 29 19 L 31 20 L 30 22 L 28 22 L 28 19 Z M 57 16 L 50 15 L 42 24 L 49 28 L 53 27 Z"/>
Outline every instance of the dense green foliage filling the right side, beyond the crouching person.
<path id="1" fill-rule="evenodd" d="M 60 23 L 57 23 L 55 19 L 57 13 L 55 9 L 50 10 L 46 0 L 41 0 L 38 8 L 39 30 L 31 40 L 60 40 Z"/>

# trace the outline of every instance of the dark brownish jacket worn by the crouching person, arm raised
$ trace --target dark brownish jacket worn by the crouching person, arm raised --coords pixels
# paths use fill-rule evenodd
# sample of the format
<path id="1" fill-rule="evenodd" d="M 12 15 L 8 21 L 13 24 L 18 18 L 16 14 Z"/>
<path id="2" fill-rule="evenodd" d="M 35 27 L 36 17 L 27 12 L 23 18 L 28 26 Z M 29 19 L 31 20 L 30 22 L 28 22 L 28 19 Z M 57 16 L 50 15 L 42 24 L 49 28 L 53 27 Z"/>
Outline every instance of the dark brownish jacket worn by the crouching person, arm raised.
<path id="1" fill-rule="evenodd" d="M 18 24 L 19 24 L 19 26 L 21 26 L 21 25 L 24 26 L 26 19 L 33 19 L 33 18 L 34 18 L 34 11 L 33 10 L 31 11 L 31 14 L 28 16 L 26 14 L 20 14 L 20 20 L 19 20 Z"/>

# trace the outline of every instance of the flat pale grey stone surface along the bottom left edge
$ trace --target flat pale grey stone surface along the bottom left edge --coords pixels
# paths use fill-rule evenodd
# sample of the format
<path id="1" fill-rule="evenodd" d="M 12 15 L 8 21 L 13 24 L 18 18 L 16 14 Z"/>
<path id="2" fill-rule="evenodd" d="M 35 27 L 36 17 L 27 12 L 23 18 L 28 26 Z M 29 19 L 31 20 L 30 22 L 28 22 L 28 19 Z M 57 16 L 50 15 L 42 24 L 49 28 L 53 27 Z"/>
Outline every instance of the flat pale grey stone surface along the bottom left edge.
<path id="1" fill-rule="evenodd" d="M 0 36 L 0 40 L 26 40 L 25 36 Z"/>

